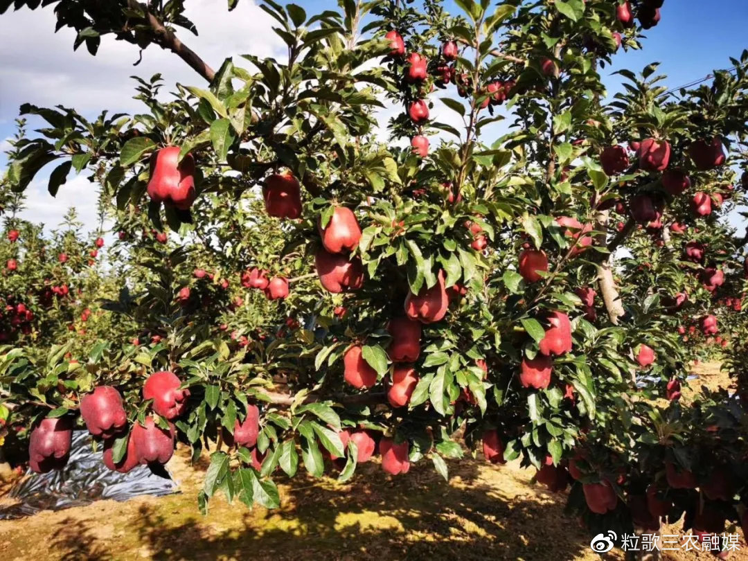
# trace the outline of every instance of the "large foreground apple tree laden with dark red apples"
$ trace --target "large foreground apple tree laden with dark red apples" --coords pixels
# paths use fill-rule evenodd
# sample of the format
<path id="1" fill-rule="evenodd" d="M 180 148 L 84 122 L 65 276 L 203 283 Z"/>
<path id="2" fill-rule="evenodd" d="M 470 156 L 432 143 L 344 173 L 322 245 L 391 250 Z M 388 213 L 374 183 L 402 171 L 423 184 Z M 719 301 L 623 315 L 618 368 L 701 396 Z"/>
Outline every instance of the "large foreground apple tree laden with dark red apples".
<path id="1" fill-rule="evenodd" d="M 182 4 L 52 4 L 74 46 L 156 44 L 207 84 L 165 102 L 138 79 L 147 112 L 95 123 L 21 108 L 48 126 L 8 180 L 88 169 L 128 275 L 102 301 L 127 333 L 89 355 L 91 383 L 37 357 L 62 392 L 34 349 L 8 351 L 32 468 L 84 423 L 118 470 L 179 440 L 212 451 L 207 509 L 218 489 L 276 506 L 274 473 L 300 461 L 348 479 L 378 453 L 447 478 L 482 453 L 570 488 L 592 530 L 741 522 L 743 406 L 681 392 L 705 337 L 745 375 L 746 239 L 726 217 L 745 202 L 748 53 L 695 89 L 619 70 L 610 96 L 601 70 L 646 47 L 661 0 L 266 0 L 287 56 L 214 71 L 177 38 Z"/>

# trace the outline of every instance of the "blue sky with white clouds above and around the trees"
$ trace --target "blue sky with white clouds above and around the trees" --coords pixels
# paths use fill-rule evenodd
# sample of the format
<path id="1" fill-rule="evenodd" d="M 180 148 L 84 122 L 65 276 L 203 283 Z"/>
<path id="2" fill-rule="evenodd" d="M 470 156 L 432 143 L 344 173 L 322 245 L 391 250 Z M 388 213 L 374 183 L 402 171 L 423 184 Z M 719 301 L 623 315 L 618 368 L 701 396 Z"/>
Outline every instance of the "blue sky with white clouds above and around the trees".
<path id="1" fill-rule="evenodd" d="M 335 7 L 325 0 L 297 3 L 307 13 Z M 224 56 L 247 52 L 282 58 L 285 49 L 270 31 L 272 20 L 250 0 L 239 1 L 232 13 L 225 10 L 225 0 L 191 0 L 186 4 L 200 37 L 186 32 L 180 37 L 213 67 L 218 68 Z M 447 2 L 447 9 L 459 12 L 452 2 Z M 139 110 L 131 99 L 132 81 L 128 78 L 135 73 L 150 76 L 160 71 L 170 87 L 175 82 L 203 85 L 182 61 L 155 46 L 144 52 L 144 61 L 138 67 L 132 67 L 138 58 L 133 46 L 106 38 L 99 55 L 93 58 L 85 49 L 73 52 L 73 35 L 67 30 L 53 34 L 53 27 L 49 8 L 0 16 L 0 37 L 14 47 L 12 57 L 6 53 L 0 59 L 0 144 L 13 134 L 13 119 L 24 101 L 47 106 L 62 103 L 93 116 L 99 108 Z M 619 83 L 618 77 L 610 76 L 613 70 L 638 72 L 653 61 L 661 63 L 660 72 L 669 76 L 666 85 L 671 88 L 700 79 L 715 68 L 730 67 L 729 57 L 737 58 L 748 48 L 748 0 L 666 0 L 662 20 L 647 34 L 642 51 L 620 51 L 613 67 L 602 70 L 610 91 L 616 91 Z M 37 125 L 33 121 L 31 124 Z M 3 164 L 4 157 L 0 156 L 0 168 Z M 61 188 L 58 200 L 49 197 L 45 188 L 49 171 L 44 170 L 30 188 L 34 205 L 28 205 L 27 218 L 50 224 L 73 203 L 88 205 L 81 209 L 84 216 L 95 211 L 91 186 L 82 178 L 71 177 Z"/>

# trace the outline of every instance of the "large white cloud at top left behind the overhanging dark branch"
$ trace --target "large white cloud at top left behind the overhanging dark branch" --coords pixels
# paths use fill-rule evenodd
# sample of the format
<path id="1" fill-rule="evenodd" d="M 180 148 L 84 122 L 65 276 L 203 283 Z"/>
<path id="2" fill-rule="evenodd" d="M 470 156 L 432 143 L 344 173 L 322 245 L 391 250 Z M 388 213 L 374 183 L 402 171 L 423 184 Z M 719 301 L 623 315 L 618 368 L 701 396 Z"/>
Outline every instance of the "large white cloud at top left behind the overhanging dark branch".
<path id="1" fill-rule="evenodd" d="M 286 48 L 272 31 L 273 20 L 251 1 L 239 2 L 233 12 L 213 0 L 191 0 L 186 16 L 197 25 L 200 35 L 177 28 L 177 35 L 215 70 L 224 58 L 251 53 L 260 57 L 285 56 Z M 204 81 L 177 55 L 151 45 L 138 66 L 138 47 L 102 38 L 98 54 L 85 46 L 73 52 L 75 32 L 63 28 L 53 33 L 55 14 L 50 7 L 34 11 L 22 8 L 0 19 L 0 37 L 13 45 L 0 61 L 0 123 L 10 123 L 22 102 L 35 105 L 62 104 L 82 114 L 141 110 L 132 99 L 132 75 L 150 77 L 162 73 L 171 89 L 176 82 L 204 85 Z M 35 30 L 33 36 L 29 30 Z M 248 63 L 247 63 L 248 65 Z"/>

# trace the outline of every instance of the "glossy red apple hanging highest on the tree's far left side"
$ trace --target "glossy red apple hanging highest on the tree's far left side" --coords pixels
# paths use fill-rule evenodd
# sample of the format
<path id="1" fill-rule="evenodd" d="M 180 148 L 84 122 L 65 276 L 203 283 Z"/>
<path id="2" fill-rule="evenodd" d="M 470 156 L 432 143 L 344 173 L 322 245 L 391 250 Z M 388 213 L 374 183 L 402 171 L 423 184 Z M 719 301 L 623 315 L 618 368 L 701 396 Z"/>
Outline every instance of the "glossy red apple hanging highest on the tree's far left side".
<path id="1" fill-rule="evenodd" d="M 180 150 L 178 146 L 168 146 L 153 153 L 147 191 L 156 203 L 172 203 L 177 209 L 187 210 L 196 196 L 194 159 L 187 154 L 178 162 Z"/>

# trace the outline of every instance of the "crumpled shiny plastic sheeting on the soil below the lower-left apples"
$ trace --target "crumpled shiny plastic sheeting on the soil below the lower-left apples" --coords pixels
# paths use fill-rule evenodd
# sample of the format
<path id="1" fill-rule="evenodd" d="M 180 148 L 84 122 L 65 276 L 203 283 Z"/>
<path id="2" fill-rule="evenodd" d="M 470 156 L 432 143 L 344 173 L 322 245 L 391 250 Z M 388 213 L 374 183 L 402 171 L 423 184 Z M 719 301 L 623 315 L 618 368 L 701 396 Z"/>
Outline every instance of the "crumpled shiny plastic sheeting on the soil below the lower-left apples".
<path id="1" fill-rule="evenodd" d="M 103 449 L 99 444 L 93 452 L 88 431 L 73 432 L 67 465 L 49 473 L 29 470 L 8 494 L 20 502 L 0 509 L 0 520 L 23 518 L 40 510 L 69 509 L 95 500 L 128 500 L 143 494 L 160 497 L 177 492 L 177 484 L 166 468 L 159 468 L 158 474 L 145 465 L 129 473 L 112 471 L 102 462 Z"/>

